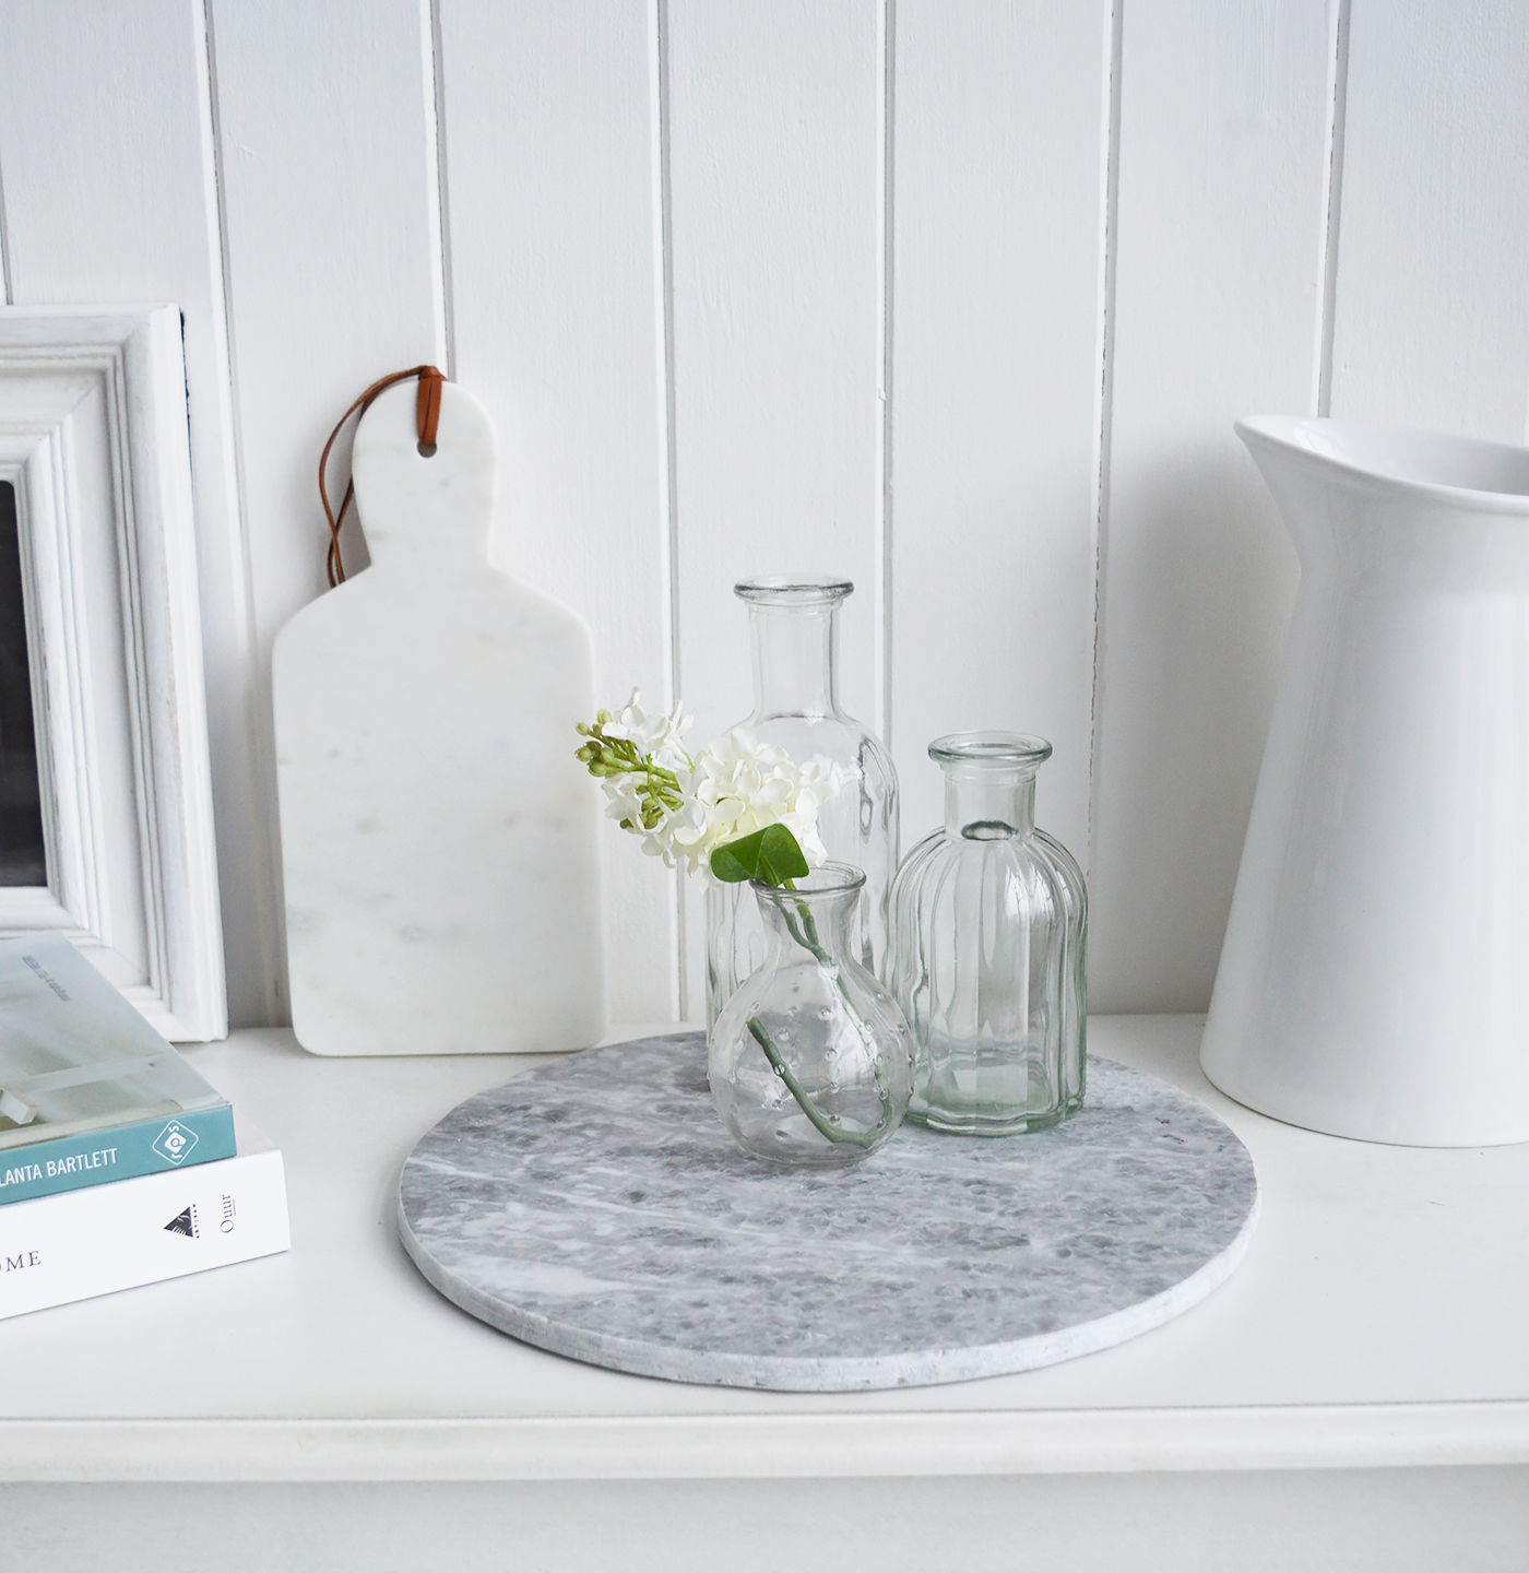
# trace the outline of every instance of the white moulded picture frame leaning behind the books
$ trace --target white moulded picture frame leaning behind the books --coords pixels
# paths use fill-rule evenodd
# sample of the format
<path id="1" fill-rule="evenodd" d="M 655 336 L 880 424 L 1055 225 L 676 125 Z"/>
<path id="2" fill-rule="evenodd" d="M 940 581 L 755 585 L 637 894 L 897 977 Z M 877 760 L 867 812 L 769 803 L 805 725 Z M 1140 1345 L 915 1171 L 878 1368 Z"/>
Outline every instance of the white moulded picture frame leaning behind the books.
<path id="1" fill-rule="evenodd" d="M 167 1038 L 228 1032 L 175 307 L 0 307 L 46 887 L 0 934 L 61 933 Z"/>

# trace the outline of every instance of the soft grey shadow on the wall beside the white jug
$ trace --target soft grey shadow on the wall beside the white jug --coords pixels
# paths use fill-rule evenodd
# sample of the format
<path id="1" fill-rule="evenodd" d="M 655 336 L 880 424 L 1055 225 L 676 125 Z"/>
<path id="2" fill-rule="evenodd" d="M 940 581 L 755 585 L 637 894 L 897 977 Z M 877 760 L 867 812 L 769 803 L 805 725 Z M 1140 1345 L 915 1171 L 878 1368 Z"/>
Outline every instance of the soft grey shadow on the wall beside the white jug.
<path id="1" fill-rule="evenodd" d="M 1225 436 L 1117 484 L 1093 775 L 1093 1010 L 1210 1004 L 1296 580 L 1230 417 Z"/>

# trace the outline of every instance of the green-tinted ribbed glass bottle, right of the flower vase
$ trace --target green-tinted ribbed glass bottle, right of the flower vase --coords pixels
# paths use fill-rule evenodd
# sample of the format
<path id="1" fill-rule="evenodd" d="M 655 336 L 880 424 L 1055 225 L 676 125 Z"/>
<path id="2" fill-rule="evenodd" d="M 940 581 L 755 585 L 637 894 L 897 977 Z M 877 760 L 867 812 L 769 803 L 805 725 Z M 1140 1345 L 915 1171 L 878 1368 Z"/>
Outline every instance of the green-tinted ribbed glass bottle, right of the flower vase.
<path id="1" fill-rule="evenodd" d="M 1084 1098 L 1082 870 L 1035 829 L 1035 772 L 1051 744 L 964 731 L 930 744 L 945 823 L 892 886 L 889 985 L 912 1027 L 908 1118 L 1008 1136 L 1076 1114 Z"/>

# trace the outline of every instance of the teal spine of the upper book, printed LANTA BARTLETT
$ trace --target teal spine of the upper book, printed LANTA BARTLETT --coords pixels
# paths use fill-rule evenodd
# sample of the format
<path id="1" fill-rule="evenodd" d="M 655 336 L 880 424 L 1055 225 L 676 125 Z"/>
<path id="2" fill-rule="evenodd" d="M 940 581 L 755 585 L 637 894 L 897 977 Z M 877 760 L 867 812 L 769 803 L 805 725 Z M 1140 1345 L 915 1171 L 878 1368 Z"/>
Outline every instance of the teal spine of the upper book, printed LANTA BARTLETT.
<path id="1" fill-rule="evenodd" d="M 109 1180 L 217 1162 L 233 1155 L 233 1109 L 227 1103 L 134 1120 L 105 1131 L 27 1142 L 0 1151 L 0 1206 Z"/>

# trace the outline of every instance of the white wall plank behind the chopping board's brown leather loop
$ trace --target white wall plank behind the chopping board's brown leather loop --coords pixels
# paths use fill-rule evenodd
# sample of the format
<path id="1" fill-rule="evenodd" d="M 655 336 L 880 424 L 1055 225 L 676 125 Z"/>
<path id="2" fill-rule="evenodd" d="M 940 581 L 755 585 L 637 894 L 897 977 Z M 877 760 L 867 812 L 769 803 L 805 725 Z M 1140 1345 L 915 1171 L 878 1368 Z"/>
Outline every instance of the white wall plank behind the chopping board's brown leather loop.
<path id="1" fill-rule="evenodd" d="M 274 815 L 271 645 L 326 588 L 324 439 L 376 378 L 445 362 L 429 14 L 422 0 L 214 0 L 211 16 L 255 738 Z M 363 566 L 359 532 L 344 546 L 348 569 Z M 280 903 L 274 917 L 280 930 Z"/>

